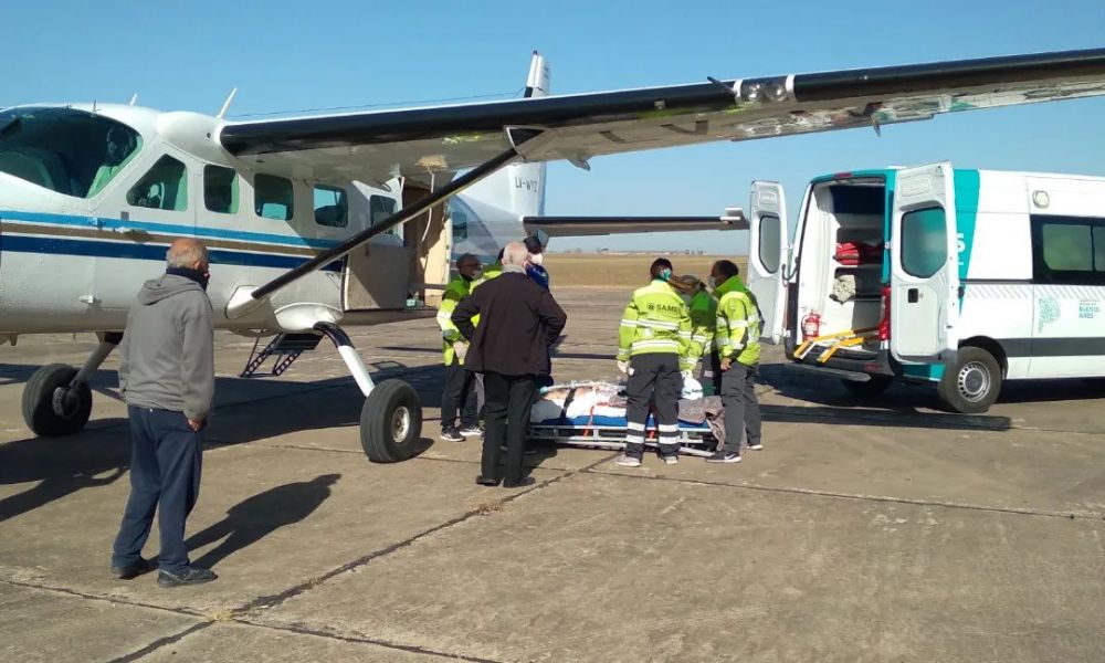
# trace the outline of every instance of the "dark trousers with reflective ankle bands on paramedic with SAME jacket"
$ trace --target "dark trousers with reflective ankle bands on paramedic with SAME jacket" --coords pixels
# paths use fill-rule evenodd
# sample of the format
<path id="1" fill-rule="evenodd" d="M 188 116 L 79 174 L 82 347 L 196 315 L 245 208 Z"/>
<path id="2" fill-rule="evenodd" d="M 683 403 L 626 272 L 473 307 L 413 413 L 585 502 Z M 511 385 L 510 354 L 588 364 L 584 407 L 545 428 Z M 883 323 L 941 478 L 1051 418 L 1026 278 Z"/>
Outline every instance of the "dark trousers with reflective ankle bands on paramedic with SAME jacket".
<path id="1" fill-rule="evenodd" d="M 656 411 L 656 431 L 660 438 L 660 453 L 678 453 L 680 392 L 683 377 L 680 375 L 678 355 L 671 352 L 638 355 L 629 361 L 629 381 L 625 387 L 625 455 L 641 457 L 644 454 L 645 424 L 649 412 Z"/>

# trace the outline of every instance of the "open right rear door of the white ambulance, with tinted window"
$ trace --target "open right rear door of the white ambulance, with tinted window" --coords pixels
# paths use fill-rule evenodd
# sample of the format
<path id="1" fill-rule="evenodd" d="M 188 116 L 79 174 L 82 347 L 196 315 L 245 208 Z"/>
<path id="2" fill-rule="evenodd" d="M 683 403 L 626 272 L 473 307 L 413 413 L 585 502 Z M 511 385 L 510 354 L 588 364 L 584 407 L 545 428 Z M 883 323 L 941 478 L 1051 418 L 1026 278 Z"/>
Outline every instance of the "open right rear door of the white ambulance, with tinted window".
<path id="1" fill-rule="evenodd" d="M 959 344 L 959 252 L 950 162 L 897 171 L 891 230 L 891 354 L 951 361 Z"/>

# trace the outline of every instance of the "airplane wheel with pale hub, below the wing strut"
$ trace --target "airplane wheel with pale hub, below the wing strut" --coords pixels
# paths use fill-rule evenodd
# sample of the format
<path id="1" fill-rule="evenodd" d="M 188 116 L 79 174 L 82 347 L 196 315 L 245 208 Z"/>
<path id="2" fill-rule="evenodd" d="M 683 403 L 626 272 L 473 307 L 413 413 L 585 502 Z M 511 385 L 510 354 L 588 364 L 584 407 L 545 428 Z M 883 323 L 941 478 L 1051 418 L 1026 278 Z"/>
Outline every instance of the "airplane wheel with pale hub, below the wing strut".
<path id="1" fill-rule="evenodd" d="M 419 452 L 422 402 L 402 380 L 385 380 L 360 410 L 360 445 L 373 463 L 398 463 Z"/>

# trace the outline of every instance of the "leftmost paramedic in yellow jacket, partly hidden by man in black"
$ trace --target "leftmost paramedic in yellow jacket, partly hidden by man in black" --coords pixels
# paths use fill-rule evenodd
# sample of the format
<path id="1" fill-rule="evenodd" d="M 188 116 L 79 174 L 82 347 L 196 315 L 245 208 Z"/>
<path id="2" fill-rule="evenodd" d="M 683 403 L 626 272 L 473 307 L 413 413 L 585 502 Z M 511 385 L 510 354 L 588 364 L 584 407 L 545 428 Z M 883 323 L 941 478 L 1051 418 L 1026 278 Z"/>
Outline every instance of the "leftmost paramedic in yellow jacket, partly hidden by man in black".
<path id="1" fill-rule="evenodd" d="M 453 309 L 472 292 L 473 283 L 480 278 L 480 260 L 471 253 L 456 259 L 456 278 L 445 286 L 438 309 L 438 326 L 441 327 L 441 349 L 445 361 L 445 386 L 441 392 L 441 439 L 446 442 L 463 442 L 464 438 L 478 438 L 474 375 L 464 370 L 464 355 L 469 341 L 450 319 Z M 461 425 L 456 427 L 456 410 L 461 411 Z"/>

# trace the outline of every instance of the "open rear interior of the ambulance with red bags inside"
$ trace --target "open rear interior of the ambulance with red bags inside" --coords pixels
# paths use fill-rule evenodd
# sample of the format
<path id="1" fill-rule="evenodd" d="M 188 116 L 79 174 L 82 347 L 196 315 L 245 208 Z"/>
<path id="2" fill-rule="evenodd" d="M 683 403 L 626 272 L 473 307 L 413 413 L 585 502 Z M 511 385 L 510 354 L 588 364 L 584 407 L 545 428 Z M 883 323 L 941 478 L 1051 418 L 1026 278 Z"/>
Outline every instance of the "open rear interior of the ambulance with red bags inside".
<path id="1" fill-rule="evenodd" d="M 877 327 L 883 315 L 885 219 L 882 178 L 812 186 L 800 240 L 799 337 L 810 313 L 820 317 L 821 336 Z M 864 349 L 877 347 L 877 338 L 864 344 Z"/>

